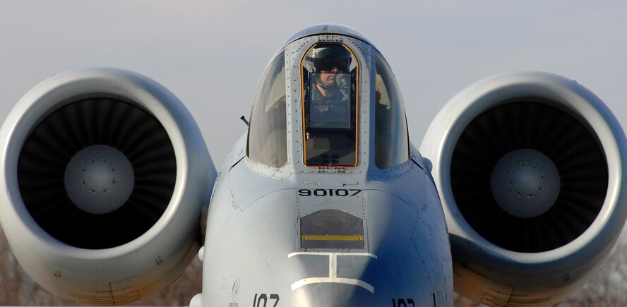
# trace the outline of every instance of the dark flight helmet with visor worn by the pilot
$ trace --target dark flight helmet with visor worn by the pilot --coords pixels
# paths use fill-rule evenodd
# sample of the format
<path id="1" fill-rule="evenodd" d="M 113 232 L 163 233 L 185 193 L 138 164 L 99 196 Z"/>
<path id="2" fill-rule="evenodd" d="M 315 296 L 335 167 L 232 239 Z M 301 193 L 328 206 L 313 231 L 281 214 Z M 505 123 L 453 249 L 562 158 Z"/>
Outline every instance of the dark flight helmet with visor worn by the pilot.
<path id="1" fill-rule="evenodd" d="M 352 56 L 340 44 L 319 44 L 307 54 L 306 61 L 310 63 L 311 73 L 330 72 L 333 68 L 338 68 L 338 73 L 347 73 Z"/>

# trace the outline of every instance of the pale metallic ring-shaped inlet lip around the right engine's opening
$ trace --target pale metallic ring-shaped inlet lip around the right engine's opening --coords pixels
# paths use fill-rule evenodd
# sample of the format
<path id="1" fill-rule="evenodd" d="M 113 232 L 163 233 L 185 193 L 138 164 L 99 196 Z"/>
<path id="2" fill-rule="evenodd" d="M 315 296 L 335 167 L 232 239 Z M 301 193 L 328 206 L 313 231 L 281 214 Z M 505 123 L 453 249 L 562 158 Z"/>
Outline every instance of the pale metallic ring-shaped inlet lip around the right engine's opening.
<path id="1" fill-rule="evenodd" d="M 596 131 L 598 143 L 606 155 L 611 183 L 597 219 L 581 236 L 561 248 L 533 253 L 532 257 L 529 253 L 501 248 L 479 236 L 462 218 L 453 198 L 453 191 L 448 186 L 449 163 L 452 159 L 453 148 L 470 120 L 486 109 L 496 107 L 503 101 L 518 99 L 521 95 L 551 101 L 554 107 L 587 119 L 584 124 Z M 627 191 L 627 183 L 621 182 L 621 176 L 627 172 L 627 164 L 621 163 L 621 159 L 625 161 L 627 157 L 625 135 L 616 117 L 611 114 L 607 106 L 583 86 L 551 73 L 537 71 L 504 73 L 480 80 L 462 90 L 438 113 L 434 123 L 436 124 L 429 127 L 421 150 L 426 153 L 425 157 L 432 157 L 431 160 L 436 165 L 434 179 L 441 192 L 451 240 L 459 239 L 466 242 L 464 244 L 484 248 L 484 253 L 481 255 L 465 255 L 465 257 L 472 259 L 481 257 L 496 262 L 505 257 L 522 265 L 526 263 L 530 265 L 529 269 L 535 265 L 564 258 L 585 265 L 590 253 L 601 253 L 604 243 L 616 241 L 627 213 L 627 207 L 616 205 L 616 203 L 626 202 L 624 193 Z M 597 237 L 602 237 L 604 240 L 597 240 Z M 573 248 L 576 250 L 582 246 L 586 246 L 587 253 L 572 253 Z"/>

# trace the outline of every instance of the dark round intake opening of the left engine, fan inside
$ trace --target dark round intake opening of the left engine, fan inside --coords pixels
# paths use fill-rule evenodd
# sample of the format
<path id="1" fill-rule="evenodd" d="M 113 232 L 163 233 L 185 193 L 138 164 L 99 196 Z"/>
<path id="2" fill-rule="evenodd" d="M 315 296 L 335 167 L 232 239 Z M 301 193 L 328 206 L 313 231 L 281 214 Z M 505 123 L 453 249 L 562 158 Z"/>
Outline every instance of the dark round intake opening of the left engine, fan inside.
<path id="1" fill-rule="evenodd" d="M 104 145 L 130 162 L 130 182 L 120 176 L 128 162 L 113 164 L 112 153 L 88 150 Z M 90 170 L 94 174 L 87 176 Z M 111 184 L 98 188 L 88 177 Z M 136 105 L 106 98 L 71 102 L 46 116 L 18 161 L 20 195 L 30 216 L 55 239 L 78 248 L 112 248 L 144 234 L 165 212 L 176 179 L 174 148 L 159 121 Z M 100 205 L 89 210 L 89 203 Z M 106 205 L 114 210 L 97 210 Z"/>

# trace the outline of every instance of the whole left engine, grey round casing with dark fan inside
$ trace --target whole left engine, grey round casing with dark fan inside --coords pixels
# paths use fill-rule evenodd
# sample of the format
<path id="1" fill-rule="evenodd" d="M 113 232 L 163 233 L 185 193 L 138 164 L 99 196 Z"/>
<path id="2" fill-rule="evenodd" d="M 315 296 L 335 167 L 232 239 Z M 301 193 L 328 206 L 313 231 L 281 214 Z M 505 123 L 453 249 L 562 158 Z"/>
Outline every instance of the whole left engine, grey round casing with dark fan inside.
<path id="1" fill-rule="evenodd" d="M 2 227 L 52 294 L 129 303 L 198 251 L 215 168 L 191 114 L 155 81 L 114 68 L 53 76 L 16 104 L 0 142 Z"/>

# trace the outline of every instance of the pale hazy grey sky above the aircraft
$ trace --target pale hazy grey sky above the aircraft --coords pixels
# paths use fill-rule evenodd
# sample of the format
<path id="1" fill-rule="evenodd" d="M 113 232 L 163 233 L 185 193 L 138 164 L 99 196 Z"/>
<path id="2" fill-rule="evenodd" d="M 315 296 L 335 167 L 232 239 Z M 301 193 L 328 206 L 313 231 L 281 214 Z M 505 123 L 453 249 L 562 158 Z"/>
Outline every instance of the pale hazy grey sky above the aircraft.
<path id="1" fill-rule="evenodd" d="M 549 71 L 595 92 L 627 126 L 625 1 L 0 1 L 0 119 L 71 68 L 157 80 L 201 128 L 216 167 L 246 132 L 259 78 L 298 30 L 341 23 L 386 57 L 419 145 L 450 97 L 510 71 Z"/>

